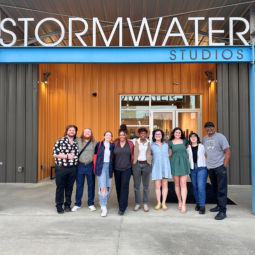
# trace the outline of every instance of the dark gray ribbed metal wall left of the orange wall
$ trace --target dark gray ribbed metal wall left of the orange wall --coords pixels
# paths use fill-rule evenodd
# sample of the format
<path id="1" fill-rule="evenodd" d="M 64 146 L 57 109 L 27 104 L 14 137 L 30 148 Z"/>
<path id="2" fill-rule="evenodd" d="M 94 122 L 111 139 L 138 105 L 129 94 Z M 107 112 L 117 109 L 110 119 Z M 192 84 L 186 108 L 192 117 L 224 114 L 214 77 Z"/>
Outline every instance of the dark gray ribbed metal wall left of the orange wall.
<path id="1" fill-rule="evenodd" d="M 37 182 L 37 87 L 37 65 L 0 65 L 0 182 Z"/>

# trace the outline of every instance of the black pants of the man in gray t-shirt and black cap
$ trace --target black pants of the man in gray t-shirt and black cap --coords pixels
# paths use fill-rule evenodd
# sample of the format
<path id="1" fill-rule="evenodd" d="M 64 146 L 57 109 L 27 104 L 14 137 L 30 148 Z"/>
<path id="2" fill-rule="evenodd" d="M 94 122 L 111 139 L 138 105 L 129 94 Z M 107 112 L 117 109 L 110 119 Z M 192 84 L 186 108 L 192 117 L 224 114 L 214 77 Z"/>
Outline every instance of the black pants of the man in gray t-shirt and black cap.
<path id="1" fill-rule="evenodd" d="M 217 198 L 217 204 L 220 207 L 220 212 L 227 210 L 227 195 L 228 195 L 228 178 L 227 169 L 224 165 L 208 170 L 213 193 Z"/>

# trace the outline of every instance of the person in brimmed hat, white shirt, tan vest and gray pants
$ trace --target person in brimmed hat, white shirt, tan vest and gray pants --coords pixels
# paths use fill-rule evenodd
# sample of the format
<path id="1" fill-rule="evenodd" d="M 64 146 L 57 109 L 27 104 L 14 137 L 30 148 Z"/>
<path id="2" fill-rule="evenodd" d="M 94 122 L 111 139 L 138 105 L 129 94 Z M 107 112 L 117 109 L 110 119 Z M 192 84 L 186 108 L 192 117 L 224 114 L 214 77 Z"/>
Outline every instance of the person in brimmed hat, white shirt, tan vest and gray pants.
<path id="1" fill-rule="evenodd" d="M 134 211 L 138 211 L 141 205 L 140 185 L 143 182 L 143 206 L 144 211 L 148 212 L 149 203 L 149 183 L 151 174 L 151 152 L 150 140 L 147 139 L 150 135 L 150 130 L 147 127 L 141 126 L 135 131 L 138 139 L 133 139 L 134 143 L 134 161 L 133 161 L 133 178 L 135 190 L 135 207 Z"/>

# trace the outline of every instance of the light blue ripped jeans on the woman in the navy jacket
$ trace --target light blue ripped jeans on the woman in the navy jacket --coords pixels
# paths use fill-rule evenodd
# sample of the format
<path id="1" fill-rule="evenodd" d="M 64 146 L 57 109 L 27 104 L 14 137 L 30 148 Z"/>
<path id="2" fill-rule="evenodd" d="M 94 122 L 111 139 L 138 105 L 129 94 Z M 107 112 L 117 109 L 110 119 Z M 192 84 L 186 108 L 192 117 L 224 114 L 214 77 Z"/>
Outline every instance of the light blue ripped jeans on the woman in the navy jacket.
<path id="1" fill-rule="evenodd" d="M 99 203 L 101 206 L 107 206 L 108 195 L 110 188 L 112 186 L 112 179 L 109 177 L 109 162 L 104 162 L 102 173 L 100 176 L 97 176 L 98 181 L 98 194 L 99 194 Z M 103 196 L 100 188 L 106 188 L 105 195 Z"/>

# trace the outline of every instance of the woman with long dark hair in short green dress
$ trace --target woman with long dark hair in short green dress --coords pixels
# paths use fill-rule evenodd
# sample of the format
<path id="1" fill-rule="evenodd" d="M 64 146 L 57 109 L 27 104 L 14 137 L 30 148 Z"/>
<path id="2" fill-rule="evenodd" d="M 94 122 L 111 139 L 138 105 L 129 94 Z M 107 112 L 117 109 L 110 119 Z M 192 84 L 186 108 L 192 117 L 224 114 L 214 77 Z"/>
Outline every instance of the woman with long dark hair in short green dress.
<path id="1" fill-rule="evenodd" d="M 188 140 L 185 138 L 180 128 L 175 128 L 171 132 L 169 140 L 170 164 L 174 177 L 175 193 L 178 197 L 178 209 L 181 213 L 186 213 L 187 198 L 187 177 L 190 174 L 189 161 L 186 154 Z"/>

